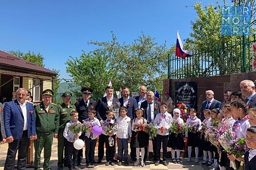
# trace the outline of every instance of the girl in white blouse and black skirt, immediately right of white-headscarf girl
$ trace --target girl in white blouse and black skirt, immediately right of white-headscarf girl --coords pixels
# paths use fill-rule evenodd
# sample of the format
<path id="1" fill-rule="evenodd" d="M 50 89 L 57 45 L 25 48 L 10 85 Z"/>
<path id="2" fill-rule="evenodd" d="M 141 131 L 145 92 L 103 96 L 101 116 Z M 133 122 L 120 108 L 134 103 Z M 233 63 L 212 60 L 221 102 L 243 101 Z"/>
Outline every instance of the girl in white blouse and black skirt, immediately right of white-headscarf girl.
<path id="1" fill-rule="evenodd" d="M 190 118 L 187 119 L 186 125 L 194 126 L 196 130 L 194 132 L 188 131 L 186 132 L 186 137 L 188 137 L 188 162 L 191 162 L 191 153 L 192 147 L 195 147 L 196 159 L 195 163 L 199 162 L 198 159 L 198 145 L 199 145 L 199 132 L 198 127 L 201 126 L 201 120 L 197 118 L 197 111 L 194 108 L 190 108 L 189 111 Z"/>

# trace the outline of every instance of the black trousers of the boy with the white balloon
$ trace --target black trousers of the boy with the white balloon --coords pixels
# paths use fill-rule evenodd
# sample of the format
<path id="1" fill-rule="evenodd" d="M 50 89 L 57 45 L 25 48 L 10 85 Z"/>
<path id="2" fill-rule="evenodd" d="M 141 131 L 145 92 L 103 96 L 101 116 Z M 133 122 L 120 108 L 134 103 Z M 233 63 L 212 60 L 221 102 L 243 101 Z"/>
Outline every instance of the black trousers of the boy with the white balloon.
<path id="1" fill-rule="evenodd" d="M 65 144 L 65 161 L 66 161 L 66 165 L 67 167 L 71 168 L 71 167 L 75 167 L 78 164 L 78 150 L 76 148 L 74 148 L 74 145 L 72 142 L 66 141 Z M 72 157 L 73 156 L 73 157 Z"/>

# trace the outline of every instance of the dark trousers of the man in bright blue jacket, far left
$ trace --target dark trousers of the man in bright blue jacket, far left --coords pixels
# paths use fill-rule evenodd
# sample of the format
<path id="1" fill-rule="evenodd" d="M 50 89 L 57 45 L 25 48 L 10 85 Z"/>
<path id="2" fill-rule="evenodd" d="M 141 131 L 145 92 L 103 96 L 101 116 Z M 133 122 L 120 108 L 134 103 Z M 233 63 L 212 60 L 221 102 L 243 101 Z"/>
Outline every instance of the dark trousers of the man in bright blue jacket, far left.
<path id="1" fill-rule="evenodd" d="M 23 131 L 21 139 L 15 139 L 8 143 L 8 151 L 4 164 L 4 170 L 14 170 L 15 157 L 18 152 L 18 170 L 26 169 L 27 153 L 28 153 L 28 131 Z"/>

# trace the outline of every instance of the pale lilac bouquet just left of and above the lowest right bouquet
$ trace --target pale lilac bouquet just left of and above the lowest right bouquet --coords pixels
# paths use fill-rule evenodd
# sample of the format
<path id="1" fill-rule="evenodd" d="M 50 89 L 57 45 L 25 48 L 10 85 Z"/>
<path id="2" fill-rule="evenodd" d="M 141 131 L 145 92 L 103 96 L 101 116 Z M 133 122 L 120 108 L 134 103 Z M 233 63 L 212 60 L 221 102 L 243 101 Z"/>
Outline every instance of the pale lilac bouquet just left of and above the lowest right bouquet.
<path id="1" fill-rule="evenodd" d="M 230 150 L 233 145 L 233 140 L 235 139 L 233 136 L 232 128 L 229 128 L 228 131 L 224 132 L 220 135 L 220 132 L 218 133 L 218 142 L 223 147 L 225 151 Z M 235 161 L 230 161 L 230 167 L 232 167 L 234 170 L 236 170 L 236 163 Z"/>

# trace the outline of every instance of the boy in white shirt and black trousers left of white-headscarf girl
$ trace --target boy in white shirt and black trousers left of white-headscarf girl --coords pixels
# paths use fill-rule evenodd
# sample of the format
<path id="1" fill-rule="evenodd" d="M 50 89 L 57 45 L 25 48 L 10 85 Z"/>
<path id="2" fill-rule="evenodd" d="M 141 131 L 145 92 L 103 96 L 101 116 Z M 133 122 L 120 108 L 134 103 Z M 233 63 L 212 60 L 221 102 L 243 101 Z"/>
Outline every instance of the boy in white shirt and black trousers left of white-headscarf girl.
<path id="1" fill-rule="evenodd" d="M 169 136 L 169 129 L 171 128 L 171 123 L 173 121 L 172 115 L 167 112 L 167 105 L 162 103 L 160 105 L 161 113 L 156 115 L 154 120 L 154 126 L 157 128 L 157 150 L 156 157 L 157 161 L 155 163 L 156 166 L 160 163 L 160 150 L 162 145 L 163 150 L 163 165 L 168 166 L 168 162 L 166 161 L 167 157 L 167 141 Z"/>

